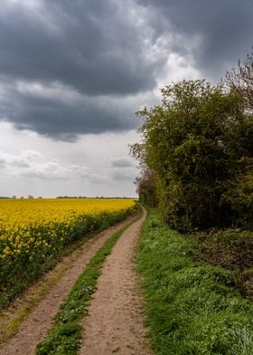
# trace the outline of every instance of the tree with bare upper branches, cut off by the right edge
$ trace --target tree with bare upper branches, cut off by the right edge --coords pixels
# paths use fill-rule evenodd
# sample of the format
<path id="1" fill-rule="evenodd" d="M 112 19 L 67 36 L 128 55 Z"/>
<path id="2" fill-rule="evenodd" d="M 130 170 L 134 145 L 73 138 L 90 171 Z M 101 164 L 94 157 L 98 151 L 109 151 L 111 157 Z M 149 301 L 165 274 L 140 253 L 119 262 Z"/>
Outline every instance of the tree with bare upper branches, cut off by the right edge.
<path id="1" fill-rule="evenodd" d="M 237 69 L 226 73 L 224 82 L 244 102 L 246 120 L 239 122 L 234 139 L 239 145 L 238 174 L 230 181 L 224 200 L 235 211 L 235 224 L 253 228 L 253 48 L 245 60 L 239 60 Z"/>

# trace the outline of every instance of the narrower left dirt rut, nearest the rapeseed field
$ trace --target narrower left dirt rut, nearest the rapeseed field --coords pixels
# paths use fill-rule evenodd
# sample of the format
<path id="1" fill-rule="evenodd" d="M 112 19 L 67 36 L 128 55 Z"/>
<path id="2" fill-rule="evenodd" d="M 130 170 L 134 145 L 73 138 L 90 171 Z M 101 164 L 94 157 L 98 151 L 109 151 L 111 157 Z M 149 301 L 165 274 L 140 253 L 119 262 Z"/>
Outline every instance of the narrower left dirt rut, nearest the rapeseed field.
<path id="1" fill-rule="evenodd" d="M 132 217 L 133 218 L 133 217 Z M 82 272 L 83 268 L 89 263 L 91 257 L 97 253 L 98 249 L 106 240 L 117 232 L 123 225 L 129 223 L 130 219 L 108 228 L 90 240 L 83 247 L 83 253 L 71 264 L 70 269 L 61 277 L 52 290 L 34 309 L 34 311 L 23 321 L 19 331 L 14 338 L 5 344 L 0 350 L 1 355 L 32 355 L 38 342 L 42 341 L 47 330 L 52 323 L 52 317 L 58 311 L 63 299 L 70 293 L 70 290 Z M 101 355 L 101 354 L 100 354 Z"/>

